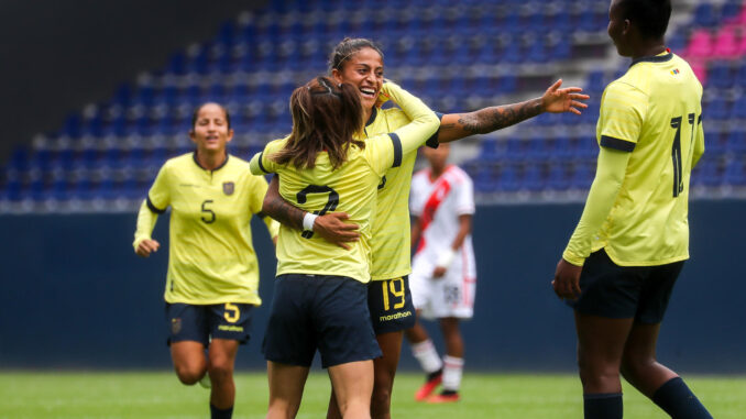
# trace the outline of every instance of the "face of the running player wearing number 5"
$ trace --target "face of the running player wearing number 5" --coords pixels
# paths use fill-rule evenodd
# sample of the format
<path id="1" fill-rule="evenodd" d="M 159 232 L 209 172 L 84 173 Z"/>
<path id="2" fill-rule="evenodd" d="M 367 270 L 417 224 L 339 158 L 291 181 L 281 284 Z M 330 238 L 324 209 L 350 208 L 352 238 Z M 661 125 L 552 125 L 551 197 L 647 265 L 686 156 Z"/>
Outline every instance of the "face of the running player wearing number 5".
<path id="1" fill-rule="evenodd" d="M 223 108 L 217 103 L 205 103 L 197 111 L 189 137 L 197 144 L 199 153 L 224 153 L 226 144 L 233 139 L 228 126 Z"/>

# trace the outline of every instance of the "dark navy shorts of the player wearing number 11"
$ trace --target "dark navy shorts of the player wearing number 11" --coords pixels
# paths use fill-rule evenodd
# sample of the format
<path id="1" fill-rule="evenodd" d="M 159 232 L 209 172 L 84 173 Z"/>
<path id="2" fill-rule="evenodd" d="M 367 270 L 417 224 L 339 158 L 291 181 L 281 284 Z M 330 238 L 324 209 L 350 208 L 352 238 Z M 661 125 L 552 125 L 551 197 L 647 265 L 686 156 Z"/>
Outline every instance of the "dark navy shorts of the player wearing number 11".
<path id="1" fill-rule="evenodd" d="M 583 315 L 660 323 L 683 264 L 618 266 L 602 249 L 585 260 L 581 295 L 568 305 Z"/>

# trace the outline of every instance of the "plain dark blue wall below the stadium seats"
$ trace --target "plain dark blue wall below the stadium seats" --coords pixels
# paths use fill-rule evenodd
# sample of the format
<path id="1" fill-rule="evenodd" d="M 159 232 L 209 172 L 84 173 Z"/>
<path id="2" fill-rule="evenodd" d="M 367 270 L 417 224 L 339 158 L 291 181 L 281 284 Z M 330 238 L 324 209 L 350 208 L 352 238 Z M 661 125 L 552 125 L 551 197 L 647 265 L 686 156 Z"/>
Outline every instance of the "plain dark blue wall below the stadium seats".
<path id="1" fill-rule="evenodd" d="M 663 324 L 659 357 L 680 371 L 746 373 L 744 201 L 691 205 L 692 260 Z M 580 205 L 480 207 L 475 317 L 464 323 L 471 371 L 574 371 L 569 308 L 550 286 Z M 167 242 L 162 218 L 155 238 Z M 167 247 L 132 252 L 135 214 L 0 217 L 0 368 L 169 368 L 163 286 Z M 240 368 L 260 353 L 272 300 L 273 250 L 254 220 L 262 264 L 253 338 Z M 432 328 L 435 331 L 435 328 Z M 415 368 L 408 349 L 404 368 Z"/>

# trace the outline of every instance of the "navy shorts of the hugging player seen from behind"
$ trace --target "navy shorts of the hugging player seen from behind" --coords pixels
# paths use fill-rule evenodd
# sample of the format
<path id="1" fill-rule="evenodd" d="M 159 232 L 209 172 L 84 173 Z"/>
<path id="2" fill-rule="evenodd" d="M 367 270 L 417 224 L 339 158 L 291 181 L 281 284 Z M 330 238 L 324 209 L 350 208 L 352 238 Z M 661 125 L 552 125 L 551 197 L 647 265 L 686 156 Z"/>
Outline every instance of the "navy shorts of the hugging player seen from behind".
<path id="1" fill-rule="evenodd" d="M 267 361 L 325 368 L 381 356 L 365 298 L 367 286 L 344 276 L 279 275 L 262 352 Z"/>

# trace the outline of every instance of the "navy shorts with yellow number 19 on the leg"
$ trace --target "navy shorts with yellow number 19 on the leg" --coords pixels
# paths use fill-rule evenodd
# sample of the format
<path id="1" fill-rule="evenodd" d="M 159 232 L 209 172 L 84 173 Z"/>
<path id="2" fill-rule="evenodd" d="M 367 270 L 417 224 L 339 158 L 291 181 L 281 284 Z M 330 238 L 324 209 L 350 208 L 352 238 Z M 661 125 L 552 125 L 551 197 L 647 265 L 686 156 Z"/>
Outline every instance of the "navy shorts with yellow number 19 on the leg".
<path id="1" fill-rule="evenodd" d="M 367 283 L 367 309 L 375 334 L 413 328 L 416 318 L 409 276 Z"/>

